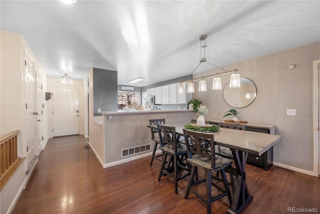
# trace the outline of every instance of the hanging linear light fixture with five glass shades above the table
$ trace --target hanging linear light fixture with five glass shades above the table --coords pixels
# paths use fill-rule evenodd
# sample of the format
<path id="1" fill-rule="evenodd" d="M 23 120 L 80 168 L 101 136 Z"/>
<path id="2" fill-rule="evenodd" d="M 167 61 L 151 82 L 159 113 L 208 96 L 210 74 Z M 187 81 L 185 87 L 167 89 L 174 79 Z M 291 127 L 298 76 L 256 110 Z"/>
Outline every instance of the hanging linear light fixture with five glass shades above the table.
<path id="1" fill-rule="evenodd" d="M 179 94 L 183 94 L 184 93 L 184 89 L 183 89 L 183 85 L 182 83 L 188 82 L 188 87 L 187 87 L 187 92 L 188 93 L 193 93 L 194 92 L 194 84 L 193 81 L 195 80 L 200 80 L 199 81 L 199 91 L 206 91 L 206 81 L 204 79 L 206 78 L 210 78 L 210 77 L 214 77 L 213 78 L 213 83 L 212 83 L 212 90 L 221 90 L 221 79 L 220 77 L 218 77 L 218 75 L 224 75 L 224 74 L 231 74 L 230 76 L 230 88 L 239 88 L 240 87 L 240 75 L 237 73 L 237 69 L 233 69 L 231 71 L 226 71 L 218 66 L 215 66 L 211 63 L 206 62 L 206 58 L 205 58 L 205 40 L 206 40 L 207 36 L 206 35 L 201 35 L 199 36 L 198 40 L 200 41 L 200 60 L 199 60 L 199 64 L 195 67 L 195 69 L 191 72 L 191 74 L 189 74 L 186 78 L 185 81 L 180 82 L 179 84 L 179 90 L 178 93 Z M 202 46 L 202 41 L 203 41 L 203 46 Z M 202 49 L 203 49 L 203 57 L 202 57 Z M 193 72 L 199 67 L 199 65 L 201 65 L 201 63 L 208 63 L 216 68 L 219 68 L 221 70 L 223 70 L 223 72 L 221 73 L 216 73 L 214 75 L 209 75 L 209 76 L 205 76 L 205 77 L 201 77 L 201 78 L 195 78 L 195 79 L 191 79 L 191 80 L 187 80 L 188 77 L 190 75 L 193 74 Z"/>

